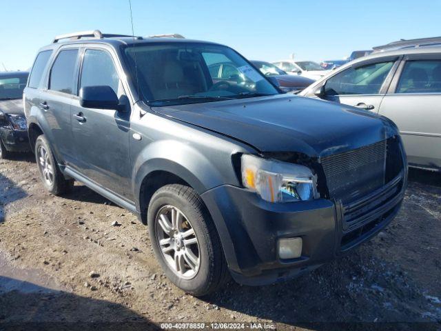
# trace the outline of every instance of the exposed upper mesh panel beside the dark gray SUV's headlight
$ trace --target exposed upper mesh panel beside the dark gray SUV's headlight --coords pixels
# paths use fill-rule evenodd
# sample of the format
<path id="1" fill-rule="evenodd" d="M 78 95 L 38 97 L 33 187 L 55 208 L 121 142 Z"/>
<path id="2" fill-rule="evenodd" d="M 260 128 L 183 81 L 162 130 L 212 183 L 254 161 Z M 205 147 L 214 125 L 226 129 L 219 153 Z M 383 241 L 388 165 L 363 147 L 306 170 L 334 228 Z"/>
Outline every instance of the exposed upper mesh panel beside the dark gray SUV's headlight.
<path id="1" fill-rule="evenodd" d="M 331 198 L 352 201 L 384 185 L 387 141 L 321 159 Z"/>

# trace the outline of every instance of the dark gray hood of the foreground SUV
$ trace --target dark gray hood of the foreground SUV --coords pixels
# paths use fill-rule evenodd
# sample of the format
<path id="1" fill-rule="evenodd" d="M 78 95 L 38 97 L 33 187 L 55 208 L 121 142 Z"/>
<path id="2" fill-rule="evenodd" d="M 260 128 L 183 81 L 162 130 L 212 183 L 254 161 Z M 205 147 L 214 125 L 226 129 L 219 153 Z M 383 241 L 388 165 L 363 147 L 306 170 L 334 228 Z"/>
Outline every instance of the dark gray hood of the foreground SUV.
<path id="1" fill-rule="evenodd" d="M 152 109 L 260 152 L 301 152 L 309 157 L 345 152 L 398 132 L 391 121 L 371 112 L 285 94 Z"/>

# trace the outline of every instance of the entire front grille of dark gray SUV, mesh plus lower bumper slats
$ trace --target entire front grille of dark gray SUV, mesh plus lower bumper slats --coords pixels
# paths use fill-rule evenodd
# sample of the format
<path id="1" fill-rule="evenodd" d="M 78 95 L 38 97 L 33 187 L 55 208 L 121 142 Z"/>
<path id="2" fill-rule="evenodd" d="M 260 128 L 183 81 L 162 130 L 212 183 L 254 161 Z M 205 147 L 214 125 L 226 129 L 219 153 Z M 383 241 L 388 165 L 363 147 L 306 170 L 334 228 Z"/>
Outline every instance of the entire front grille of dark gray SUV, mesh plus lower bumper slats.
<path id="1" fill-rule="evenodd" d="M 387 223 L 402 201 L 406 170 L 398 137 L 321 160 L 331 199 L 341 210 L 340 250 Z"/>

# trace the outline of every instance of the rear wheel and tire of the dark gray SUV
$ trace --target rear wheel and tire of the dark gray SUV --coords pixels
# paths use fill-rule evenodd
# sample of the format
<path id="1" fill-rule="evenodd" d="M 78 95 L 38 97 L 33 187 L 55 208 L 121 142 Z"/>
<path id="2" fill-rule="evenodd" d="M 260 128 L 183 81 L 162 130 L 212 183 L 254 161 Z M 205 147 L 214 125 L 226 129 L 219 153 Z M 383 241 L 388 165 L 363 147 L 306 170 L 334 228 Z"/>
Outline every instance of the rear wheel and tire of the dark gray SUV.
<path id="1" fill-rule="evenodd" d="M 48 140 L 41 134 L 35 141 L 35 159 L 39 168 L 41 181 L 45 189 L 55 195 L 69 192 L 73 185 L 73 179 L 65 179 L 61 173 L 54 154 L 50 149 Z"/>

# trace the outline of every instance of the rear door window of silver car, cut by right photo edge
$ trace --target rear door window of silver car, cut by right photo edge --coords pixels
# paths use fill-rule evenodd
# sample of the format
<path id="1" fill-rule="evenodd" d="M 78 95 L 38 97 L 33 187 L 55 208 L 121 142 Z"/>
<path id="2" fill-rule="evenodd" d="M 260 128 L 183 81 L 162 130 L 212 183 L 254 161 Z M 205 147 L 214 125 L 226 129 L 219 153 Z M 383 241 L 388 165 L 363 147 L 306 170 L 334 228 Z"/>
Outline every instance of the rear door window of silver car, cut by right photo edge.
<path id="1" fill-rule="evenodd" d="M 441 60 L 407 61 L 396 93 L 440 93 Z"/>

